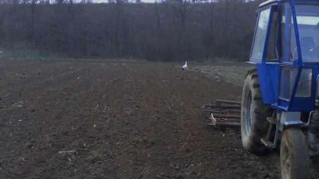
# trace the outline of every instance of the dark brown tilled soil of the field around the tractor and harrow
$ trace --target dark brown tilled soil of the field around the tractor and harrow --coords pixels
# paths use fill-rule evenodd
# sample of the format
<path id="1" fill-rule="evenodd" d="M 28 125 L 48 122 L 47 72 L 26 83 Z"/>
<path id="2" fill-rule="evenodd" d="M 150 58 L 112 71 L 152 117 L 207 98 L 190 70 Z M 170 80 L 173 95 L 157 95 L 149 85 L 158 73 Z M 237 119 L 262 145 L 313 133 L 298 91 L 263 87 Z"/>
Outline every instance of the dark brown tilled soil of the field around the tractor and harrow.
<path id="1" fill-rule="evenodd" d="M 238 128 L 205 125 L 203 104 L 242 89 L 196 69 L 0 60 L 0 178 L 280 178 L 278 152 L 255 156 Z"/>

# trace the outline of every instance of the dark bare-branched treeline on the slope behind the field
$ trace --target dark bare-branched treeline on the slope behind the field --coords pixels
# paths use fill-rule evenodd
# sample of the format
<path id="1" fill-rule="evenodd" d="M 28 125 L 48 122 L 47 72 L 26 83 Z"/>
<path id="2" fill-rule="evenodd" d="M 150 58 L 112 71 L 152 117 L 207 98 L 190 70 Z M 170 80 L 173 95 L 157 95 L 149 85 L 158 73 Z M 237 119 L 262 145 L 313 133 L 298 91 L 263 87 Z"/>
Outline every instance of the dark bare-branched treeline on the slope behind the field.
<path id="1" fill-rule="evenodd" d="M 260 0 L 0 0 L 0 47 L 70 58 L 247 60 Z"/>

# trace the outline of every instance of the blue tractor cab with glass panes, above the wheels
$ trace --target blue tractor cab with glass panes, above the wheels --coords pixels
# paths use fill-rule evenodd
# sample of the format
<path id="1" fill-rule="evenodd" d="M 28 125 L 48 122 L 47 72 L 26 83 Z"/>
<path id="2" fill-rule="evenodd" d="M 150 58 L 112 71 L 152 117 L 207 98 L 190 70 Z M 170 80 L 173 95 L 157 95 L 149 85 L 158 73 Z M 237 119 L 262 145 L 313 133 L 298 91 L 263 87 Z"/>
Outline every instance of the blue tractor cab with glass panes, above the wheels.
<path id="1" fill-rule="evenodd" d="M 289 112 L 315 109 L 319 75 L 319 0 L 260 4 L 250 63 L 265 104 Z"/>

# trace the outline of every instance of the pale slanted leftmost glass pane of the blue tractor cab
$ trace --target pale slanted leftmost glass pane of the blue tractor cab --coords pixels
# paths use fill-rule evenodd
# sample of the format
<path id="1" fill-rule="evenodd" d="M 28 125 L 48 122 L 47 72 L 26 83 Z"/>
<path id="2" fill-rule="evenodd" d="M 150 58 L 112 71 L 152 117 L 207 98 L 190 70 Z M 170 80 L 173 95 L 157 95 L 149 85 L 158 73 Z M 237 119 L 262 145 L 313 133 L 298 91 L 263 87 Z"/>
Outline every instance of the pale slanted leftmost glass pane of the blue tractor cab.
<path id="1" fill-rule="evenodd" d="M 268 21 L 269 21 L 270 8 L 262 10 L 259 13 L 258 24 L 254 37 L 253 49 L 251 53 L 252 59 L 261 60 L 265 46 Z"/>

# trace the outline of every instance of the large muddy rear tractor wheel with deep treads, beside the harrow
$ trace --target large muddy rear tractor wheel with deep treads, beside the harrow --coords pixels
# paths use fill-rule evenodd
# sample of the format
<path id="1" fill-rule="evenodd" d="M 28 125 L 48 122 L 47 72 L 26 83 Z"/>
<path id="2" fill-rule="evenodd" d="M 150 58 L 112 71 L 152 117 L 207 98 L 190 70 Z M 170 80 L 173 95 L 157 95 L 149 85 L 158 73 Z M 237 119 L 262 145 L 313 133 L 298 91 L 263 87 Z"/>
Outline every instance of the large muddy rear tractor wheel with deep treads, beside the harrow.
<path id="1" fill-rule="evenodd" d="M 261 138 L 267 136 L 273 109 L 263 102 L 257 70 L 248 71 L 241 102 L 241 141 L 246 151 L 257 155 L 270 152 Z"/>

